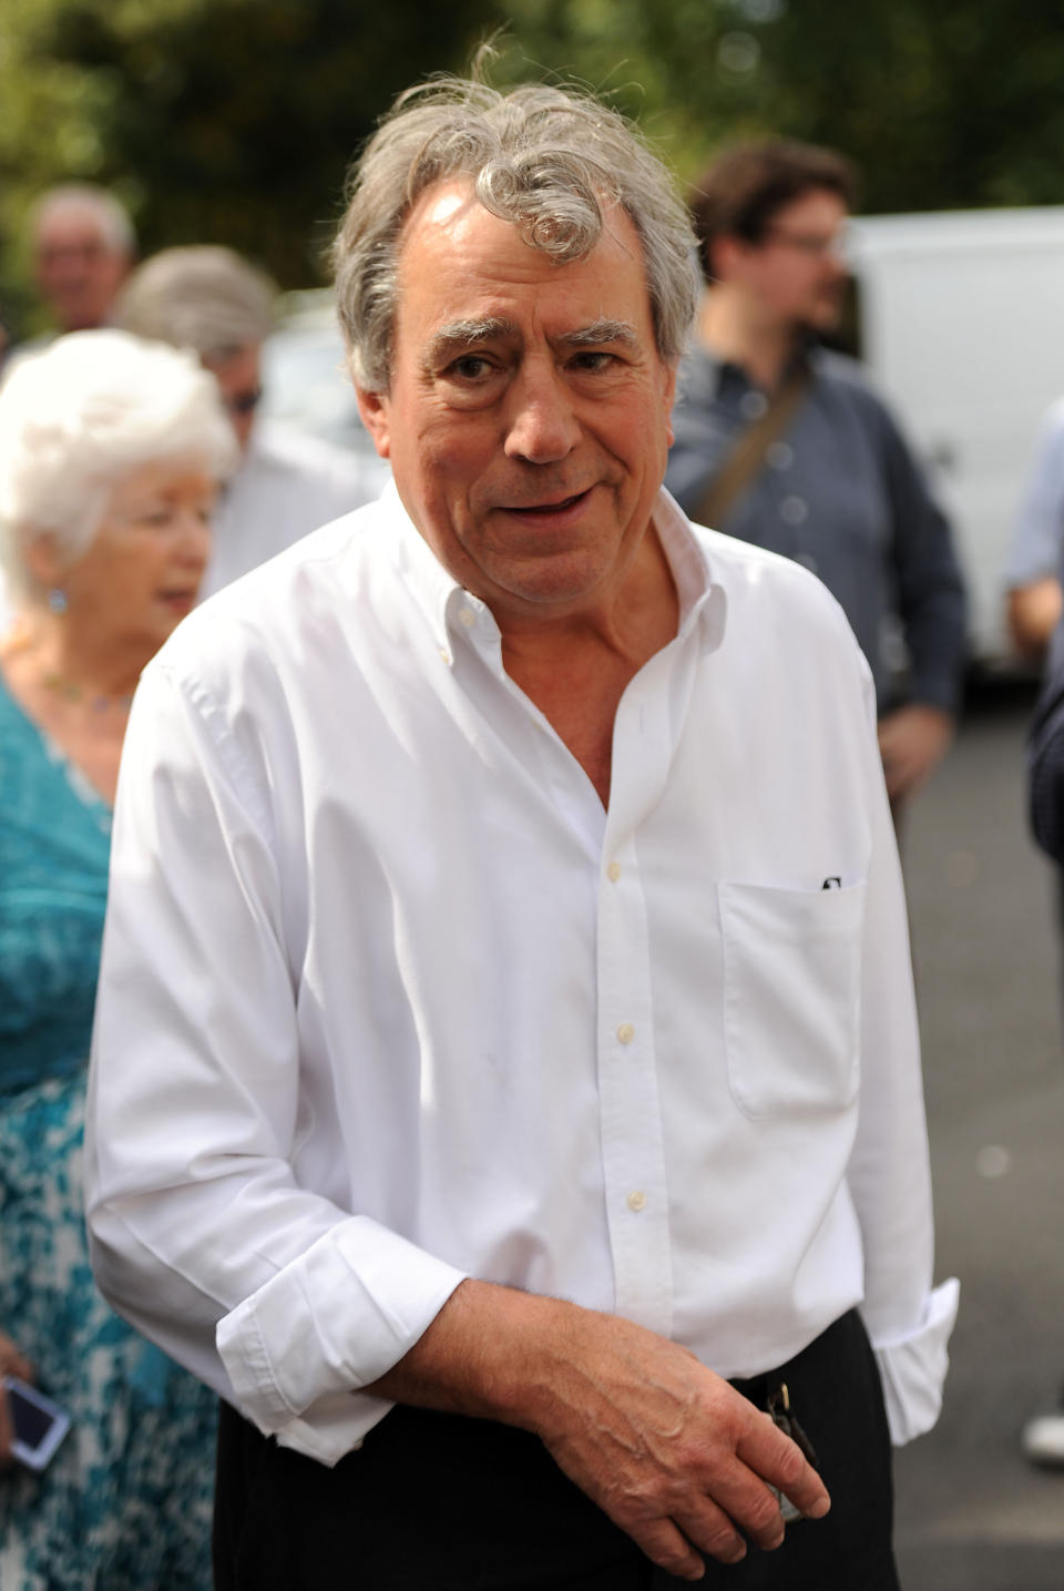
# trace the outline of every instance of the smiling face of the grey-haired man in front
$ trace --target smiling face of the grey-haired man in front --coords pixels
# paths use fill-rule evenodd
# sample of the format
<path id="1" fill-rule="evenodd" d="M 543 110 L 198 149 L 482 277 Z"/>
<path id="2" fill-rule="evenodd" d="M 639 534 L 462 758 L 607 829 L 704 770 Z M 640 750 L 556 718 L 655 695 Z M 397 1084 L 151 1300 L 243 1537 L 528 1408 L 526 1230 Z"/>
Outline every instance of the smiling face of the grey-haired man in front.
<path id="1" fill-rule="evenodd" d="M 590 611 L 620 590 L 671 442 L 643 250 L 611 210 L 552 264 L 466 180 L 421 196 L 399 253 L 391 387 L 359 393 L 399 496 L 496 617 Z"/>

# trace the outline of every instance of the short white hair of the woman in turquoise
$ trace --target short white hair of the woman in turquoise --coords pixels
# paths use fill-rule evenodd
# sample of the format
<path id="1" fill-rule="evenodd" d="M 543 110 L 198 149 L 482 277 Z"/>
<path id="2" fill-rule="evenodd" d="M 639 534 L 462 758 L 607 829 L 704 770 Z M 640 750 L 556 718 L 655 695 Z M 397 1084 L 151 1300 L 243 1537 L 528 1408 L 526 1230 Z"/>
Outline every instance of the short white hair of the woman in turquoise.
<path id="1" fill-rule="evenodd" d="M 87 552 L 113 488 L 145 465 L 215 480 L 239 461 L 215 377 L 192 353 L 126 331 L 72 331 L 21 356 L 0 387 L 0 563 L 33 597 L 24 549 Z"/>

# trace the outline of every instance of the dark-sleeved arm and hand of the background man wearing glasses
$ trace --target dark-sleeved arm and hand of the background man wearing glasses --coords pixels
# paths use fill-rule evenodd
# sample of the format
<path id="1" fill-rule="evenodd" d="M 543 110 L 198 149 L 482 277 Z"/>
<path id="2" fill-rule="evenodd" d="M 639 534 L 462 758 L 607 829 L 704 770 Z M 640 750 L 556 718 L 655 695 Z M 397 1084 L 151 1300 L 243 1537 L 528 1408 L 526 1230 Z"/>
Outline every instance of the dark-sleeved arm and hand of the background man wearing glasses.
<path id="1" fill-rule="evenodd" d="M 911 794 L 945 754 L 967 646 L 967 598 L 949 522 L 911 449 L 878 399 L 876 431 L 892 511 L 897 609 L 910 654 L 910 700 L 880 721 L 892 800 Z"/>

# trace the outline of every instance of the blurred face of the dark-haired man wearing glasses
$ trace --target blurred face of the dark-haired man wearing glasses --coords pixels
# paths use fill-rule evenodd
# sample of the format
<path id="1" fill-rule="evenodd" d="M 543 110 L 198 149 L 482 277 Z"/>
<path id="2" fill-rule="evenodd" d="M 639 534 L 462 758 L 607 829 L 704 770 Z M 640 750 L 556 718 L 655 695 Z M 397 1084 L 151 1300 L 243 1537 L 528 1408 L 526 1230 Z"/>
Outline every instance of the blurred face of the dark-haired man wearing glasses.
<path id="1" fill-rule="evenodd" d="M 771 318 L 810 331 L 838 323 L 848 280 L 846 205 L 827 188 L 786 204 L 759 243 L 738 243 L 736 272 Z"/>

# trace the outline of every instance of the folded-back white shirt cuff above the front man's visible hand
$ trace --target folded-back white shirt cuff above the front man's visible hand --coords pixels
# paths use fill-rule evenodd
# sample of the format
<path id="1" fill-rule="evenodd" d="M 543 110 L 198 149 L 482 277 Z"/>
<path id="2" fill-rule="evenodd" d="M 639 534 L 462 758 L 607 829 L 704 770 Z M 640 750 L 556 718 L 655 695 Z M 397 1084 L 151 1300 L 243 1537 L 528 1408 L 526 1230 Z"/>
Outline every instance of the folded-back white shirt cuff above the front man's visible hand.
<path id="1" fill-rule="evenodd" d="M 336 1462 L 391 1406 L 353 1394 L 414 1348 L 461 1281 L 364 1216 L 339 1222 L 218 1322 L 237 1406 L 285 1446 Z"/>

